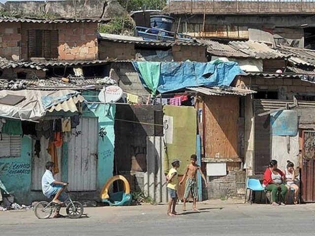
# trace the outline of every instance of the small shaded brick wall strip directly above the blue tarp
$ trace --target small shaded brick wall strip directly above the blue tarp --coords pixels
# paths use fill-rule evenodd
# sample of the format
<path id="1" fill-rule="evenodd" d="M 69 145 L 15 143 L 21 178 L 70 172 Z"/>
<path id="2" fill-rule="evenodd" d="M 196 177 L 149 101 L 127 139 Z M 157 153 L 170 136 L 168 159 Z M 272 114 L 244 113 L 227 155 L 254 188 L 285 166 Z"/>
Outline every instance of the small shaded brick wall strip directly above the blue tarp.
<path id="1" fill-rule="evenodd" d="M 205 46 L 179 46 L 172 47 L 174 61 L 198 61 L 206 62 L 206 47 Z"/>

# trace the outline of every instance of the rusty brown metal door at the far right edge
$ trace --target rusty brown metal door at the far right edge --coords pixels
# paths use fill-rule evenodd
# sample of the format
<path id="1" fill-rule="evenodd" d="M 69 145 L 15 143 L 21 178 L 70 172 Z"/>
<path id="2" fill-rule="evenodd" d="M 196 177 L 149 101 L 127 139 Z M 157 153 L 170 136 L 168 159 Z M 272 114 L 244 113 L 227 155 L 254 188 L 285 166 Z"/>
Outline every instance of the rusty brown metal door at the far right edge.
<path id="1" fill-rule="evenodd" d="M 302 201 L 315 202 L 315 131 L 303 131 Z"/>

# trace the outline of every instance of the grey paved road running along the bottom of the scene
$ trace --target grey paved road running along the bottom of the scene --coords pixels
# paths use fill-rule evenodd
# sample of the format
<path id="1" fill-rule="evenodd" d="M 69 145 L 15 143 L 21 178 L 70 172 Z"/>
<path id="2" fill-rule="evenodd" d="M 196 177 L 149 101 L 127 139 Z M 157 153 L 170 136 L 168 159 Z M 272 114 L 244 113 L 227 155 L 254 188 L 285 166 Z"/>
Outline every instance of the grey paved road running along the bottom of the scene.
<path id="1" fill-rule="evenodd" d="M 190 206 L 189 206 L 190 207 Z M 1 236 L 315 235 L 315 205 L 199 204 L 176 217 L 166 206 L 85 208 L 89 218 L 38 220 L 32 210 L 0 212 Z M 181 206 L 178 206 L 179 212 Z"/>

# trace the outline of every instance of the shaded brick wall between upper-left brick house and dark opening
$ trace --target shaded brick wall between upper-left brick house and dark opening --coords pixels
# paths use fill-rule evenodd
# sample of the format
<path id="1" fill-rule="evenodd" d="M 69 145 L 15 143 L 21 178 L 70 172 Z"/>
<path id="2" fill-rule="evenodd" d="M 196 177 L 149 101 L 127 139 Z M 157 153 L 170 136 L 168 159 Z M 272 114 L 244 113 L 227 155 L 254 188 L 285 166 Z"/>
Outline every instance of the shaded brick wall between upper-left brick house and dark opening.
<path id="1" fill-rule="evenodd" d="M 99 59 L 135 59 L 136 51 L 134 43 L 99 42 Z"/>

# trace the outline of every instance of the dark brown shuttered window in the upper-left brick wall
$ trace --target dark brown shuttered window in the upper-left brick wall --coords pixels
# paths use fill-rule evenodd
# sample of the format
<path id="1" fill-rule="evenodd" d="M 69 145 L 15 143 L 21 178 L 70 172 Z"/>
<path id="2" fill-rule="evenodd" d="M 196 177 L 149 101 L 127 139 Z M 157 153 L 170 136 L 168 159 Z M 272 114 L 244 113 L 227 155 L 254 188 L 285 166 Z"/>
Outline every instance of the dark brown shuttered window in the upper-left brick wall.
<path id="1" fill-rule="evenodd" d="M 30 29 L 29 58 L 58 58 L 58 30 Z"/>

